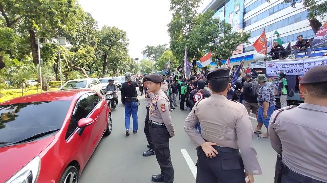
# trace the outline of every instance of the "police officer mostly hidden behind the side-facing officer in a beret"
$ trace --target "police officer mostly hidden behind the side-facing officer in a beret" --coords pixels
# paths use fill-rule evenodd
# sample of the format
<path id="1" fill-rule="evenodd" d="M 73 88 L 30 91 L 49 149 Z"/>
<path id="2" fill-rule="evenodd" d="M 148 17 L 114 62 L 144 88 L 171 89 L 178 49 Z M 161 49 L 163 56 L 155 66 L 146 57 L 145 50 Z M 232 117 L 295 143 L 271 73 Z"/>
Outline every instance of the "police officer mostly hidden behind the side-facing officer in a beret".
<path id="1" fill-rule="evenodd" d="M 148 157 L 150 155 L 154 155 L 155 154 L 155 151 L 154 151 L 154 148 L 153 148 L 153 143 L 152 143 L 152 138 L 151 138 L 151 135 L 150 135 L 150 131 L 149 131 L 149 107 L 150 107 L 150 104 L 151 104 L 151 100 L 154 96 L 154 94 L 152 92 L 150 92 L 147 88 L 148 88 L 148 84 L 147 84 L 147 79 L 146 79 L 146 76 L 144 76 L 143 78 L 143 86 L 144 86 L 144 91 L 145 91 L 145 107 L 146 107 L 146 117 L 145 117 L 145 124 L 144 124 L 144 134 L 145 134 L 145 137 L 148 141 L 148 148 L 149 150 L 143 152 L 143 156 L 144 157 Z"/>

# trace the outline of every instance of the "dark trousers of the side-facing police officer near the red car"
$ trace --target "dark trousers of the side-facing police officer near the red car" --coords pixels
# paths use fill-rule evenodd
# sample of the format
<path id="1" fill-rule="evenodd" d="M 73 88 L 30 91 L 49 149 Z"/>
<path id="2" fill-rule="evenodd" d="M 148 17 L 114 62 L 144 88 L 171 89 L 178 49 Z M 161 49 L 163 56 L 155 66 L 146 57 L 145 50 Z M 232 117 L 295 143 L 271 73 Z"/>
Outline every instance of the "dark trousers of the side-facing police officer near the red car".
<path id="1" fill-rule="evenodd" d="M 152 123 L 149 123 L 149 131 L 161 174 L 164 175 L 164 182 L 174 182 L 174 168 L 169 150 L 169 132 L 165 126 L 157 126 Z"/>

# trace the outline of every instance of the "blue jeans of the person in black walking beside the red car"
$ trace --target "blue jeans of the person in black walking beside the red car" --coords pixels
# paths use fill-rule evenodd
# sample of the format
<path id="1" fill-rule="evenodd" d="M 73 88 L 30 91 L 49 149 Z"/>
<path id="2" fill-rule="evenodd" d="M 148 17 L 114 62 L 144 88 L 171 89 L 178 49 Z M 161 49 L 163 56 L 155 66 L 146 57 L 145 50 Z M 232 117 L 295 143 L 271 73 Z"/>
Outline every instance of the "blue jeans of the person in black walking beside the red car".
<path id="1" fill-rule="evenodd" d="M 125 129 L 129 130 L 131 115 L 133 117 L 133 131 L 137 131 L 137 101 L 125 102 Z"/>

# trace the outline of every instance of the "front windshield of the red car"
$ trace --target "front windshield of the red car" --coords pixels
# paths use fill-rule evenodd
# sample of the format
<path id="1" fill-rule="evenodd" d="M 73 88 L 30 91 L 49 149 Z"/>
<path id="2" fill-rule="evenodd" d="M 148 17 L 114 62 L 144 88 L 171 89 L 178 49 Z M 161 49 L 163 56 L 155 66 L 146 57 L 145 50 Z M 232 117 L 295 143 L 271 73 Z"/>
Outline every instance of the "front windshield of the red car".
<path id="1" fill-rule="evenodd" d="M 71 101 L 0 105 L 0 146 L 60 129 Z"/>

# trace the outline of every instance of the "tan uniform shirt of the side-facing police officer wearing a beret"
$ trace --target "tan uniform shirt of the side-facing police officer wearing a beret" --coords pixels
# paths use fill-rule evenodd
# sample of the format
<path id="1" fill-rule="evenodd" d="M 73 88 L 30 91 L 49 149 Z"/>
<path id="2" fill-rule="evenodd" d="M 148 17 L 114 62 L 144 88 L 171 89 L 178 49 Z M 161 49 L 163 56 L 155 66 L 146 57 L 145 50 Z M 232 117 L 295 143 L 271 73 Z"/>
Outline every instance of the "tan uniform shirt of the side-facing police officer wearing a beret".
<path id="1" fill-rule="evenodd" d="M 170 136 L 174 136 L 174 126 L 169 111 L 169 100 L 161 89 L 152 98 L 149 109 L 149 119 L 158 123 L 164 123 Z"/>

